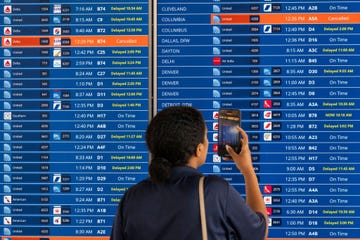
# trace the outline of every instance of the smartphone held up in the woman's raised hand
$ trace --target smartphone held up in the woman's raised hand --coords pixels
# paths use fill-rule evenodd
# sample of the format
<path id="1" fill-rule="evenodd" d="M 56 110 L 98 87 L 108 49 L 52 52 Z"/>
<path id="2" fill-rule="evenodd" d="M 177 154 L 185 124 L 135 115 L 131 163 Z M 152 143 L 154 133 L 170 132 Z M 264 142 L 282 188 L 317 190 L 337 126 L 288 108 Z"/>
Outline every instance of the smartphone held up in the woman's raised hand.
<path id="1" fill-rule="evenodd" d="M 240 133 L 236 126 L 240 126 L 241 113 L 238 109 L 219 109 L 218 155 L 229 157 L 225 145 L 231 146 L 235 152 L 241 151 Z"/>

